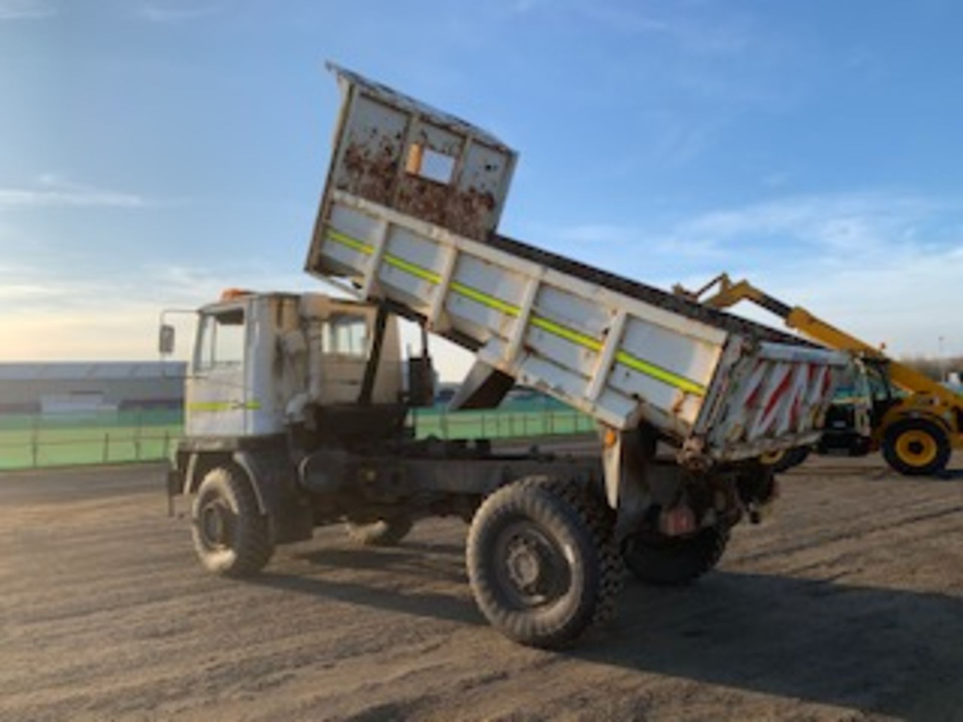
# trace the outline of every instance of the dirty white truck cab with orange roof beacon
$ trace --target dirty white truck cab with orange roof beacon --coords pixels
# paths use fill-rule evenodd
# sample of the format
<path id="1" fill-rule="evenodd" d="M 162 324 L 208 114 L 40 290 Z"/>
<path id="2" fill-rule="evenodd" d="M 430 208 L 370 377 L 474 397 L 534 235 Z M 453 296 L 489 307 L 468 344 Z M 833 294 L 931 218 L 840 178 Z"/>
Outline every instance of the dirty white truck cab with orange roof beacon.
<path id="1" fill-rule="evenodd" d="M 283 434 L 321 406 L 395 403 L 402 392 L 397 322 L 365 388 L 377 309 L 320 294 L 231 290 L 198 311 L 186 382 L 188 438 Z"/>

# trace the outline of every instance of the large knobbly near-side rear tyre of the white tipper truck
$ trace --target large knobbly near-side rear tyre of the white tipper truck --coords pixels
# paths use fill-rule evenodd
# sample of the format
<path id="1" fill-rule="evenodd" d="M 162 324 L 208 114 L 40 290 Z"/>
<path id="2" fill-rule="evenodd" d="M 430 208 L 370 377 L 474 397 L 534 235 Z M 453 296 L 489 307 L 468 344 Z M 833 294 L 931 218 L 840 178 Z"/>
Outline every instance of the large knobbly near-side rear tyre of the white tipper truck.
<path id="1" fill-rule="evenodd" d="M 489 496 L 468 531 L 466 564 L 491 625 L 521 644 L 558 649 L 612 618 L 624 576 L 612 521 L 604 503 L 575 482 L 527 477 Z M 509 579 L 513 545 L 527 538 L 540 540 L 550 557 L 543 561 L 549 579 L 533 582 L 552 587 L 544 601 L 525 599 L 528 592 Z"/>

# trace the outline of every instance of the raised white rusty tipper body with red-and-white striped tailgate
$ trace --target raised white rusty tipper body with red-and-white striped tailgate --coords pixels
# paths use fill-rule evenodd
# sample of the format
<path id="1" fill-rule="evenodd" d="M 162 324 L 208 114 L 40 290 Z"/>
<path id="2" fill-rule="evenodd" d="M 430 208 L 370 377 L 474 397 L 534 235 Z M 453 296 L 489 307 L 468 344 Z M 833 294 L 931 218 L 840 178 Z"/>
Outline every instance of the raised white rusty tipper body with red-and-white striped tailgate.
<path id="1" fill-rule="evenodd" d="M 495 233 L 516 155 L 335 68 L 344 102 L 307 270 L 630 429 L 737 459 L 812 442 L 845 357 Z"/>

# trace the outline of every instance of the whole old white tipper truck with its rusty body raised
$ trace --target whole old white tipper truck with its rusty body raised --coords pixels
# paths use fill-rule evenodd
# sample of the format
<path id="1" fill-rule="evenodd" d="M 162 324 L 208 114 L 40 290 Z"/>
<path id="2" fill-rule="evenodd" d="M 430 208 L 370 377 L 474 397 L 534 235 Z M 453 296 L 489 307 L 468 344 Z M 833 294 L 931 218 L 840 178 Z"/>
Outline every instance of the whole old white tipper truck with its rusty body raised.
<path id="1" fill-rule="evenodd" d="M 190 502 L 202 564 L 246 576 L 317 526 L 386 545 L 456 515 L 481 611 L 542 647 L 611 616 L 623 565 L 670 584 L 710 570 L 773 497 L 760 456 L 818 439 L 845 354 L 499 236 L 507 145 L 331 69 L 343 99 L 306 270 L 353 299 L 234 291 L 199 309 L 168 492 Z M 598 451 L 416 440 L 405 420 L 433 374 L 427 350 L 403 362 L 399 317 L 474 352 L 454 408 L 525 384 L 593 417 Z"/>

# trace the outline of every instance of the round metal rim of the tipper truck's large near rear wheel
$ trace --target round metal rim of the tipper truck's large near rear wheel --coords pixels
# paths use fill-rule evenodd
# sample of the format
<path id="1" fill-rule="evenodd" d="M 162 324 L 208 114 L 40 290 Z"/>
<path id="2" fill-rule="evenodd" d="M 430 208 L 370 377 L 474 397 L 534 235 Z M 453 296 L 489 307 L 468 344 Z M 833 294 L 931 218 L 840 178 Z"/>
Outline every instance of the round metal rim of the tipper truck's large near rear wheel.
<path id="1" fill-rule="evenodd" d="M 549 606 L 571 586 L 568 559 L 559 544 L 530 520 L 503 529 L 496 540 L 495 578 L 508 606 Z"/>

